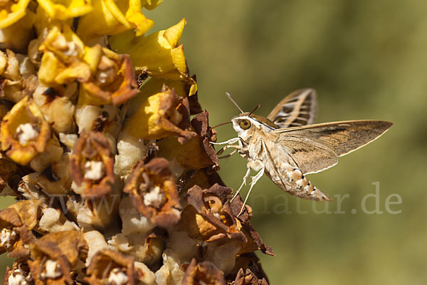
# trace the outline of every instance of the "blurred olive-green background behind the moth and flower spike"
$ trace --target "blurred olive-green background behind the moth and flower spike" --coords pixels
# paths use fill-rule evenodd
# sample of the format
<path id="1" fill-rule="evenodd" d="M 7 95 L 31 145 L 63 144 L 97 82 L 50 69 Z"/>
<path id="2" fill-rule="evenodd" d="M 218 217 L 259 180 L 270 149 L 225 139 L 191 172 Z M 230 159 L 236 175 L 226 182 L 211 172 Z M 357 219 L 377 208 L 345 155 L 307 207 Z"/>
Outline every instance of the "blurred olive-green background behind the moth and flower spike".
<path id="1" fill-rule="evenodd" d="M 268 115 L 303 87 L 317 90 L 319 123 L 394 123 L 336 167 L 310 175 L 334 198 L 331 214 L 319 213 L 326 204 L 285 195 L 268 177 L 258 182 L 249 204 L 255 229 L 276 254 L 258 254 L 271 284 L 426 284 L 426 9 L 421 0 L 165 0 L 147 12 L 152 31 L 187 19 L 181 43 L 211 125 L 238 113 L 226 91 L 243 110 L 260 103 L 257 113 Z M 236 136 L 230 125 L 217 130 L 218 141 Z M 237 188 L 245 171 L 238 155 L 221 160 L 229 187 Z M 362 211 L 373 182 L 382 214 Z M 334 213 L 334 195 L 345 194 L 344 214 Z M 393 194 L 402 202 L 390 208 L 400 214 L 386 211 Z M 369 197 L 367 209 L 375 207 Z"/>

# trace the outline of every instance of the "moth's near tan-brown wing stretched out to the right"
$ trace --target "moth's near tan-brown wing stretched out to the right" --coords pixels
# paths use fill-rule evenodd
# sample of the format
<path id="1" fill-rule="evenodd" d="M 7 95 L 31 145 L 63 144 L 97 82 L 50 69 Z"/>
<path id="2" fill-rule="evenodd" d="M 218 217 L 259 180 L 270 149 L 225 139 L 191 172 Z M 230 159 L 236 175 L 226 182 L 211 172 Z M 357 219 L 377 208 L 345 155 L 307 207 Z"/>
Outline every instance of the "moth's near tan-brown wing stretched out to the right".
<path id="1" fill-rule="evenodd" d="M 352 120 L 274 130 L 278 144 L 305 173 L 315 173 L 337 164 L 337 157 L 379 138 L 392 123 L 382 120 Z"/>

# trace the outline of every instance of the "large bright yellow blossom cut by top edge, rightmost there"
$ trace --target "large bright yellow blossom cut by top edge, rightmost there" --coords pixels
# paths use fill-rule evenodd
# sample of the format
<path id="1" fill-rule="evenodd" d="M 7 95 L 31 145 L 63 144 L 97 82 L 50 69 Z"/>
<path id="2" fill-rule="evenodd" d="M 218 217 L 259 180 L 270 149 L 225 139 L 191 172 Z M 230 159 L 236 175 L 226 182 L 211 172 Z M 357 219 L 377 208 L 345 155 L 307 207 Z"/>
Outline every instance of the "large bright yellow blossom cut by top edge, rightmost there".
<path id="1" fill-rule="evenodd" d="M 95 0 L 93 11 L 80 19 L 77 33 L 85 42 L 132 28 L 136 29 L 137 36 L 141 36 L 154 25 L 141 9 L 141 0 Z"/>

